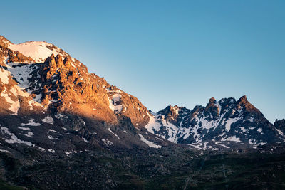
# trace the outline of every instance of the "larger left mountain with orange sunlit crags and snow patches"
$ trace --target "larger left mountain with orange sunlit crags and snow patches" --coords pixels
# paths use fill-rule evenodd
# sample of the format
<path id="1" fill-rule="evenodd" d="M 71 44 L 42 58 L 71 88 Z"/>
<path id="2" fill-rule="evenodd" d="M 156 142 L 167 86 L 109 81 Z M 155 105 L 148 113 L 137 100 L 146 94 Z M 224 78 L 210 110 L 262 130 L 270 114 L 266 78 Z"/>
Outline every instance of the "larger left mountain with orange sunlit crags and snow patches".
<path id="1" fill-rule="evenodd" d="M 14 44 L 1 36 L 0 66 L 0 141 L 6 147 L 56 154 L 170 144 L 143 128 L 149 112 L 136 97 L 50 43 Z"/>

